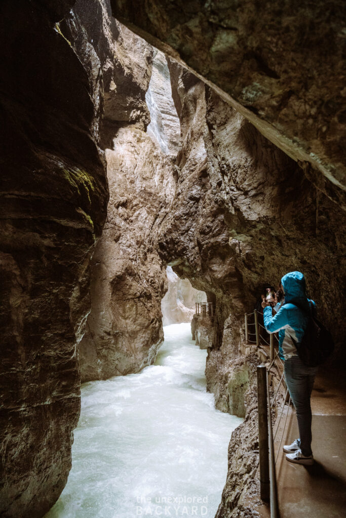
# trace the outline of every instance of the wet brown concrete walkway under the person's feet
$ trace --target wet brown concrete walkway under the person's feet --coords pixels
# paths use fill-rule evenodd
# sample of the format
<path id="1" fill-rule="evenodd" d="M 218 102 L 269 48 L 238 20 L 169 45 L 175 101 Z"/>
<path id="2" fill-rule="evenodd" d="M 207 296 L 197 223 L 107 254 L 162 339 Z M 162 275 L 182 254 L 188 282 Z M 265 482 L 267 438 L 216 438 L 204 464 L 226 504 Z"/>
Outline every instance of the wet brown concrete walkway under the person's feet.
<path id="1" fill-rule="evenodd" d="M 299 436 L 295 411 L 290 409 L 280 450 L 275 441 L 281 518 L 346 516 L 345 395 L 344 372 L 328 370 L 317 376 L 311 396 L 313 466 L 289 463 L 282 452 L 283 443 Z"/>

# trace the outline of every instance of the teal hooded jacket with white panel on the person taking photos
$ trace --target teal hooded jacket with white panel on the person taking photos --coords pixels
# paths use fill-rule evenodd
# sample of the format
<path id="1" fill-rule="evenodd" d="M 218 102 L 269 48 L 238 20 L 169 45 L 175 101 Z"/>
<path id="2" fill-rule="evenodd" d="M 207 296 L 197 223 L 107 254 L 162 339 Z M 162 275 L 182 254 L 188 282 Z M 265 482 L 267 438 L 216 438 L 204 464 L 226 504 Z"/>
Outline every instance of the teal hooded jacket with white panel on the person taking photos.
<path id="1" fill-rule="evenodd" d="M 263 317 L 268 333 L 279 331 L 279 356 L 281 359 L 288 359 L 297 354 L 292 338 L 301 342 L 308 324 L 310 309 L 309 299 L 306 296 L 305 277 L 300 271 L 291 271 L 284 275 L 281 284 L 285 292 L 284 304 L 274 316 L 272 316 L 271 306 L 265 307 Z M 315 312 L 314 301 L 310 300 L 310 303 Z"/>

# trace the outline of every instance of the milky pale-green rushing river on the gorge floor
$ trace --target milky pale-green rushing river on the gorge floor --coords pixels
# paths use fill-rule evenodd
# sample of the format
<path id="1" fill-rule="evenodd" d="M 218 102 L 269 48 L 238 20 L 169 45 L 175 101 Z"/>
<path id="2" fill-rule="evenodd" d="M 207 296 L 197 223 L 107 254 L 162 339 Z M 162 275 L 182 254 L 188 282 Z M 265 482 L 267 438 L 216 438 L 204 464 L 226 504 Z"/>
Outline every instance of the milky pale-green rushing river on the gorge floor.
<path id="1" fill-rule="evenodd" d="M 214 408 L 190 324 L 164 327 L 155 365 L 81 387 L 67 485 L 46 518 L 213 518 L 242 419 Z"/>

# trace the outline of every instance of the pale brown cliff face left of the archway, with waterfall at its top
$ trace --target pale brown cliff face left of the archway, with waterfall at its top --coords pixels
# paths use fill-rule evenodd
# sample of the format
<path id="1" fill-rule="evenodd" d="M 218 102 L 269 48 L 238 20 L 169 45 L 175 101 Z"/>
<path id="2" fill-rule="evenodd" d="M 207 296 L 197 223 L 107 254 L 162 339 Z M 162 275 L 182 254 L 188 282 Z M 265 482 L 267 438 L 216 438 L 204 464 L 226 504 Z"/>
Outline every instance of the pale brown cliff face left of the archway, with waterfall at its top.
<path id="1" fill-rule="evenodd" d="M 118 121 L 112 149 L 106 151 L 110 199 L 92 260 L 92 309 L 79 347 L 82 381 L 139 371 L 153 363 L 163 340 L 160 303 L 167 280 L 155 235 L 174 196 L 172 156 L 180 126 L 169 95 L 165 57 L 156 53 L 151 63 L 153 49 L 137 39 L 132 52 L 140 47 L 150 66 L 143 96 L 149 87 L 153 129 L 145 133 L 141 117 L 122 128 Z M 151 67 L 154 73 L 149 83 Z M 132 74 L 134 83 L 135 68 Z M 135 95 L 129 89 L 127 95 L 131 93 Z"/>

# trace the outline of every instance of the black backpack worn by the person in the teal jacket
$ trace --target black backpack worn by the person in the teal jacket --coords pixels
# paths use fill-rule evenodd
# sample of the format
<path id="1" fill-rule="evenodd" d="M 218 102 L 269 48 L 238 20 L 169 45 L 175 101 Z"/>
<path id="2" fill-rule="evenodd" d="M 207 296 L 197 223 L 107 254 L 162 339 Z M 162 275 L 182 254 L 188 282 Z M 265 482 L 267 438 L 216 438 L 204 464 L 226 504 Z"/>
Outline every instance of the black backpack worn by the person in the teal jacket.
<path id="1" fill-rule="evenodd" d="M 303 313 L 307 314 L 306 310 L 300 305 L 294 304 Z M 328 329 L 316 319 L 312 313 L 311 303 L 309 301 L 310 313 L 307 328 L 303 335 L 301 342 L 292 341 L 296 346 L 297 353 L 301 361 L 308 367 L 316 367 L 325 362 L 328 356 L 334 351 L 334 340 Z"/>

